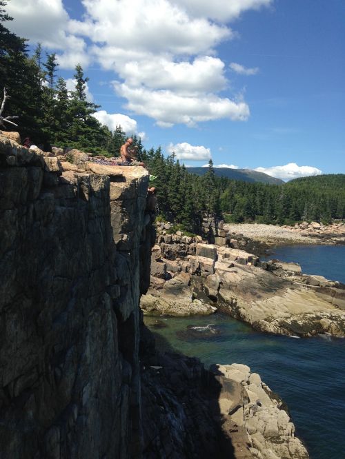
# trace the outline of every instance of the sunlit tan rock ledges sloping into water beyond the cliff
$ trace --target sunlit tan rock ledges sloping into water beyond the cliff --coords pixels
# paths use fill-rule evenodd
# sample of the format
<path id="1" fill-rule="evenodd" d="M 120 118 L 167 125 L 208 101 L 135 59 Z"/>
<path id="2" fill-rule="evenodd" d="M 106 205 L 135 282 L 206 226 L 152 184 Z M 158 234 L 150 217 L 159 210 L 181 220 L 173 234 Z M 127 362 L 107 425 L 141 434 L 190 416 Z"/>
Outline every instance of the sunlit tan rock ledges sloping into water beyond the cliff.
<path id="1" fill-rule="evenodd" d="M 146 315 L 190 316 L 221 310 L 253 328 L 288 336 L 345 336 L 345 286 L 306 276 L 295 263 L 179 234 L 158 234 L 152 249 Z"/>

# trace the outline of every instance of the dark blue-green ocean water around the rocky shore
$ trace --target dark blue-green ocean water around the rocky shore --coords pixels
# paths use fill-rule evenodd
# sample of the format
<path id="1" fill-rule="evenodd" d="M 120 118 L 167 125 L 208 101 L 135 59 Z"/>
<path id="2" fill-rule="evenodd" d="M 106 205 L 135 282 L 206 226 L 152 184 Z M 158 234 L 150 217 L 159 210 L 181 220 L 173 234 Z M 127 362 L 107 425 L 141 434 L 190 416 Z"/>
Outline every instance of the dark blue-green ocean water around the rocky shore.
<path id="1" fill-rule="evenodd" d="M 345 283 L 344 249 L 277 247 L 273 258 L 297 261 L 308 274 Z M 345 338 L 263 334 L 224 314 L 161 318 L 166 327 L 160 329 L 153 327 L 154 320 L 145 319 L 160 349 L 196 356 L 206 365 L 249 365 L 288 404 L 312 459 L 345 459 Z"/>

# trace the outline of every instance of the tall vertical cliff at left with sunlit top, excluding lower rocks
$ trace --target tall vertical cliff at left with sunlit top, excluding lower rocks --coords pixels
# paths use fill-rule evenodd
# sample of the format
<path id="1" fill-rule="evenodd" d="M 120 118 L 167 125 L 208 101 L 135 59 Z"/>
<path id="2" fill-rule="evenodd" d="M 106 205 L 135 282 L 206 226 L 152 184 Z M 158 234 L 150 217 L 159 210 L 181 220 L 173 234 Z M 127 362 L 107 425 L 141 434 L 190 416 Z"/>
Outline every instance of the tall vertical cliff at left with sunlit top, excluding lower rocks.
<path id="1" fill-rule="evenodd" d="M 142 167 L 63 171 L 1 136 L 1 457 L 140 453 L 147 184 Z"/>

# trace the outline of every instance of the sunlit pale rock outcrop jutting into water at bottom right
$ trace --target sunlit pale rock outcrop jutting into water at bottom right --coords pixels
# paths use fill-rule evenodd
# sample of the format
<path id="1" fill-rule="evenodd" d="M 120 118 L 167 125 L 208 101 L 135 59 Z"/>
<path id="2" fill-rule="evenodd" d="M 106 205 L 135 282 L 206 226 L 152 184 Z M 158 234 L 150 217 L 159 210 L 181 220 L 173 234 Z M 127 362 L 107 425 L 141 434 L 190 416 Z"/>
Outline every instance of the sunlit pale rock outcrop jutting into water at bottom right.
<path id="1" fill-rule="evenodd" d="M 246 365 L 215 365 L 221 392 L 219 406 L 224 421 L 247 435 L 251 457 L 258 459 L 307 459 L 306 448 L 295 437 L 295 425 L 284 402 Z"/>

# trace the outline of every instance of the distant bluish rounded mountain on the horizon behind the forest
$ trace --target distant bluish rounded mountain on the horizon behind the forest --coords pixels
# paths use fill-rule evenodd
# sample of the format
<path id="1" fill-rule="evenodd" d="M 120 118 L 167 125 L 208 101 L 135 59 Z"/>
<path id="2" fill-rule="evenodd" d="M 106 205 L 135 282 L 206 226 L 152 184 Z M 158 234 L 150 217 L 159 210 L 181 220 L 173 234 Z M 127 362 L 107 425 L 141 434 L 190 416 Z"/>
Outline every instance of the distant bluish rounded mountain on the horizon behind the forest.
<path id="1" fill-rule="evenodd" d="M 270 183 L 270 185 L 282 185 L 284 181 L 275 179 L 264 172 L 257 172 L 250 169 L 230 169 L 230 167 L 215 167 L 215 174 L 220 177 L 227 177 L 233 180 L 242 180 L 244 182 L 261 182 Z M 204 175 L 208 167 L 187 167 L 190 174 Z"/>

